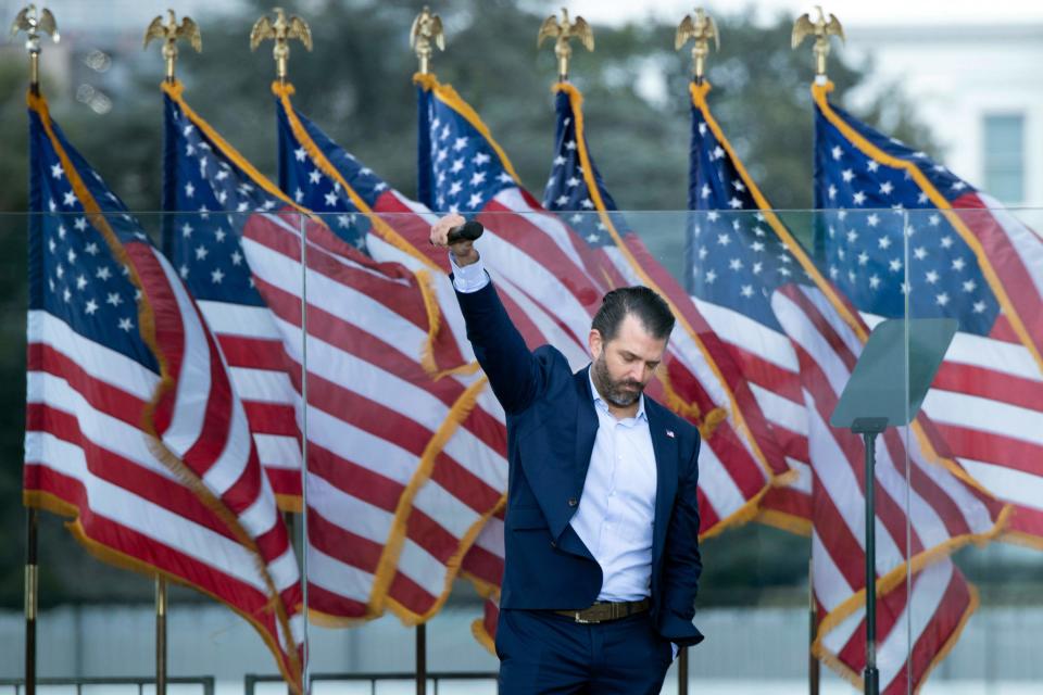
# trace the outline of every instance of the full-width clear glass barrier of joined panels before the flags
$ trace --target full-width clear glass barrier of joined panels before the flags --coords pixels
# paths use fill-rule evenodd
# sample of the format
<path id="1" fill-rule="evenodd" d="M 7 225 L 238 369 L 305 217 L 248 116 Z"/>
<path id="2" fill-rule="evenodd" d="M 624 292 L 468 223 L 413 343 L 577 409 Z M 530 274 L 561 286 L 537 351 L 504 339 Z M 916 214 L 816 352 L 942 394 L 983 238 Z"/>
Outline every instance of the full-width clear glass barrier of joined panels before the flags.
<path id="1" fill-rule="evenodd" d="M 96 555 L 160 565 L 223 596 L 228 577 L 265 585 L 255 555 L 235 549 L 229 529 L 253 533 L 292 621 L 303 604 L 294 564 L 285 553 L 278 561 L 278 548 L 288 548 L 279 545 L 282 531 L 263 532 L 277 521 L 278 504 L 309 580 L 314 692 L 368 692 L 364 677 L 378 672 L 400 674 L 378 692 L 412 692 L 412 626 L 428 618 L 427 668 L 443 674 L 440 692 L 494 692 L 498 661 L 487 645 L 503 573 L 506 418 L 473 366 L 448 257 L 427 242 L 433 219 L 5 215 L 13 265 L 2 276 L 9 336 L 0 364 L 11 422 L 29 424 L 28 498 L 66 513 L 70 504 L 93 505 L 74 530 L 93 539 Z M 804 692 L 818 668 L 809 646 L 833 667 L 820 668 L 824 687 L 842 691 L 842 678 L 860 672 L 864 450 L 829 418 L 869 331 L 887 318 L 904 320 L 907 356 L 894 365 L 902 372 L 915 371 L 916 321 L 951 316 L 959 330 L 915 424 L 877 440 L 881 687 L 903 692 L 903 681 L 930 666 L 923 692 L 1020 692 L 1043 675 L 1030 658 L 1043 635 L 1033 598 L 1040 470 L 1032 454 L 1043 431 L 1035 426 L 1043 379 L 1031 311 L 1041 267 L 1031 229 L 1043 211 L 478 219 L 486 232 L 477 248 L 523 337 L 531 348 L 551 343 L 574 369 L 590 361 L 591 316 L 608 289 L 652 285 L 678 316 L 646 393 L 683 413 L 705 439 L 695 623 L 708 639 L 689 650 L 692 691 Z M 26 240 L 35 249 L 28 273 Z M 124 273 L 128 264 L 137 286 Z M 179 281 L 183 304 L 174 301 Z M 214 354 L 203 343 L 175 364 L 175 338 L 188 344 L 185 331 L 198 325 L 185 312 L 192 306 L 221 350 L 223 364 L 208 363 L 209 372 L 198 369 L 201 355 Z M 161 397 L 154 410 L 146 407 L 161 365 L 197 368 L 171 393 L 219 389 L 226 375 L 249 425 L 253 465 L 265 475 L 257 495 L 266 502 L 243 506 L 257 496 L 235 496 L 241 481 L 218 475 L 228 460 L 221 450 L 192 452 L 186 442 L 197 440 L 171 433 L 194 422 L 213 444 L 221 419 L 204 403 L 167 410 Z M 150 447 L 149 417 L 184 467 Z M 7 432 L 9 459 L 18 460 L 25 430 Z M 9 467 L 4 483 L 11 501 L 16 470 Z M 302 479 L 306 516 L 294 513 L 305 508 Z M 227 515 L 214 516 L 214 504 Z M 24 528 L 17 505 L 8 509 L 5 528 Z M 146 529 L 144 509 L 169 523 Z M 153 581 L 85 553 L 63 520 L 39 514 L 38 644 L 47 655 L 39 674 L 150 678 Z M 106 534 L 114 525 L 130 532 Z M 150 555 L 151 542 L 131 542 L 146 531 L 174 549 Z M 12 649 L 0 657 L 0 679 L 23 668 L 24 539 L 12 538 L 18 541 L 4 566 L 14 579 L 0 626 Z M 225 573 L 199 573 L 200 558 Z M 266 595 L 251 591 L 225 598 L 242 607 Z M 239 692 L 246 675 L 278 672 L 261 632 L 225 605 L 177 584 L 168 599 L 172 675 L 213 677 L 218 692 Z M 292 626 L 303 639 L 303 616 Z M 903 670 L 909 662 L 912 677 Z M 664 692 L 678 691 L 677 669 Z M 201 692 L 202 682 L 178 687 Z M 255 683 L 254 692 L 276 691 L 284 691 L 278 681 Z"/>

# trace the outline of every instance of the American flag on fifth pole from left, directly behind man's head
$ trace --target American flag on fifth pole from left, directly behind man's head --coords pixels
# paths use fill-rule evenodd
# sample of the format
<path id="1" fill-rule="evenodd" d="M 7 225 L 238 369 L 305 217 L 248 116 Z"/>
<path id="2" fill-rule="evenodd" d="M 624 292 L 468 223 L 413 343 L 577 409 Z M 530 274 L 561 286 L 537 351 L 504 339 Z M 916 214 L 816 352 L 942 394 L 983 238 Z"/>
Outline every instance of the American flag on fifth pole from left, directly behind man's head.
<path id="1" fill-rule="evenodd" d="M 728 348 L 709 330 L 681 283 L 653 257 L 617 211 L 590 154 L 579 90 L 567 83 L 554 89 L 555 156 L 543 204 L 558 212 L 591 251 L 600 252 L 607 266 L 605 274 L 617 285 L 653 288 L 677 316 L 678 328 L 664 365 L 668 375 L 663 382 L 665 400 L 681 415 L 690 416 L 683 406 L 678 407 L 678 401 L 694 401 L 701 412 L 702 417 L 694 418 L 706 444 L 700 452 L 701 535 L 713 535 L 731 521 L 752 517 L 768 489 L 782 484 L 789 466 Z M 596 214 L 578 213 L 583 210 Z M 677 386 L 670 389 L 671 384 Z M 678 388 L 681 384 L 683 388 Z M 726 414 L 719 403 L 728 403 L 729 420 L 720 427 L 707 426 L 713 419 L 707 415 L 714 409 Z"/>

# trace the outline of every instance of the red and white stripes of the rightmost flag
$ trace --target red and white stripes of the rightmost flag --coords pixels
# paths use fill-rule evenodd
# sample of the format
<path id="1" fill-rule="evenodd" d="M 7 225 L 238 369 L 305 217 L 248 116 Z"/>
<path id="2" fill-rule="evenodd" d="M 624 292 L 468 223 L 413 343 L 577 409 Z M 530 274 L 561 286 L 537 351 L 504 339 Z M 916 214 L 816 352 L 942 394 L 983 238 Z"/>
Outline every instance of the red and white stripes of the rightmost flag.
<path id="1" fill-rule="evenodd" d="M 1009 531 L 1043 544 L 1043 240 L 981 193 L 953 201 L 1025 325 L 1001 314 L 988 337 L 957 333 L 923 401 L 950 455 L 1015 505 Z"/>

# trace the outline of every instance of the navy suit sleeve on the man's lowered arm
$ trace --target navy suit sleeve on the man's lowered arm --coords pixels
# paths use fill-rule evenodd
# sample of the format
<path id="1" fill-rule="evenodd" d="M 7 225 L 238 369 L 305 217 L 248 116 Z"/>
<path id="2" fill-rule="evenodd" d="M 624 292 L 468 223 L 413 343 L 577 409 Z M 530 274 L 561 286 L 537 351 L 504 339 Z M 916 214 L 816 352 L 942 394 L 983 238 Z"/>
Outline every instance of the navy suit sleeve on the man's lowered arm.
<path id="1" fill-rule="evenodd" d="M 699 553 L 699 448 L 696 432 L 692 455 L 683 469 L 670 526 L 663 566 L 662 633 L 681 646 L 692 646 L 703 641 L 703 635 L 692 624 L 695 617 L 695 596 L 703 561 Z"/>

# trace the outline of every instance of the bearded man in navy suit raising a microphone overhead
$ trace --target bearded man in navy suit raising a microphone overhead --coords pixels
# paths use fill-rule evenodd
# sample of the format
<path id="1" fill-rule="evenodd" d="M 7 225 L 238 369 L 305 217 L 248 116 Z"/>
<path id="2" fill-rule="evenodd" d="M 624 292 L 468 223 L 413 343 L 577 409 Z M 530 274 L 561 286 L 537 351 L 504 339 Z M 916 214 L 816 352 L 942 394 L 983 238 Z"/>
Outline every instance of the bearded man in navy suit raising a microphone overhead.
<path id="1" fill-rule="evenodd" d="M 449 215 L 431 243 L 448 245 Z M 507 415 L 500 693 L 658 693 L 702 571 L 699 431 L 643 394 L 674 328 L 648 288 L 614 290 L 575 375 L 530 352 L 470 241 L 450 247 L 467 338 Z"/>

